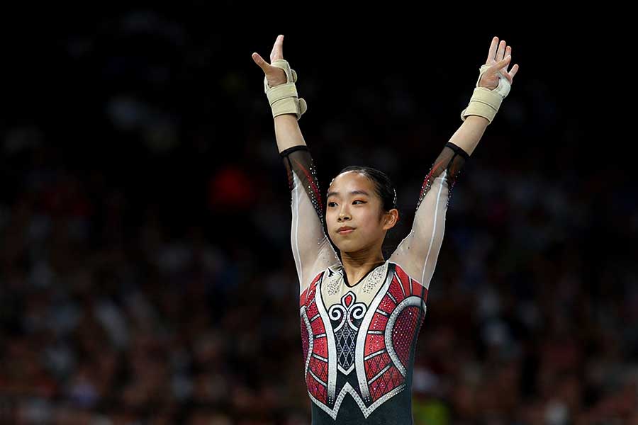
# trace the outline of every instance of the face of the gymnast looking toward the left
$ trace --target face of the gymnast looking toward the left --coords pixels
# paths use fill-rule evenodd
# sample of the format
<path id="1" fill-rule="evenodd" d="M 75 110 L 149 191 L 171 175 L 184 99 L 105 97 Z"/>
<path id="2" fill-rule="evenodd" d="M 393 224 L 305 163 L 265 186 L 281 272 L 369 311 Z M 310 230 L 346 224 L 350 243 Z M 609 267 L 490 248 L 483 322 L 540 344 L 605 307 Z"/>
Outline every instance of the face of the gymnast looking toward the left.
<path id="1" fill-rule="evenodd" d="M 381 198 L 374 183 L 358 171 L 346 171 L 335 177 L 326 198 L 328 236 L 340 251 L 359 251 L 383 242 L 386 236 Z M 340 227 L 354 230 L 339 232 Z"/>

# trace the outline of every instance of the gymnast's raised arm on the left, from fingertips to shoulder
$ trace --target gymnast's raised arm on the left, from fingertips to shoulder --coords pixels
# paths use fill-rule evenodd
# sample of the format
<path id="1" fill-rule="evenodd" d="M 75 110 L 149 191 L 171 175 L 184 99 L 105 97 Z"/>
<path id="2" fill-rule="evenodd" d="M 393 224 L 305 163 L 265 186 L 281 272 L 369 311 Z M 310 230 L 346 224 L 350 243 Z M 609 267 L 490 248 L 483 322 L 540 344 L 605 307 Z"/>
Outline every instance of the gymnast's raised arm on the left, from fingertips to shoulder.
<path id="1" fill-rule="evenodd" d="M 273 111 L 277 148 L 288 174 L 291 246 L 301 294 L 320 271 L 340 260 L 324 231 L 317 169 L 298 124 L 307 106 L 297 96 L 294 84 L 297 75 L 284 60 L 283 42 L 284 36 L 279 35 L 270 55 L 271 64 L 257 53 L 252 58 L 265 74 L 264 87 Z"/>

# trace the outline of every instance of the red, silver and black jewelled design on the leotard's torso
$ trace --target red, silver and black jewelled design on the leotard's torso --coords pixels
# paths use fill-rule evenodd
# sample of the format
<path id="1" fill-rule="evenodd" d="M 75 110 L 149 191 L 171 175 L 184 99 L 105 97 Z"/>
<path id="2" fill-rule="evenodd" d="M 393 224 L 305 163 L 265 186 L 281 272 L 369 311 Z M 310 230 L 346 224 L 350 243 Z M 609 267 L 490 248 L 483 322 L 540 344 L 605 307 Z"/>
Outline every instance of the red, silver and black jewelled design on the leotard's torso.
<path id="1" fill-rule="evenodd" d="M 339 296 L 339 276 L 329 268 L 301 294 L 308 395 L 333 419 L 347 394 L 367 418 L 405 390 L 411 373 L 427 290 L 396 263 L 387 262 L 381 270 L 386 273 L 375 271 L 353 288 L 341 285 L 345 293 Z"/>

